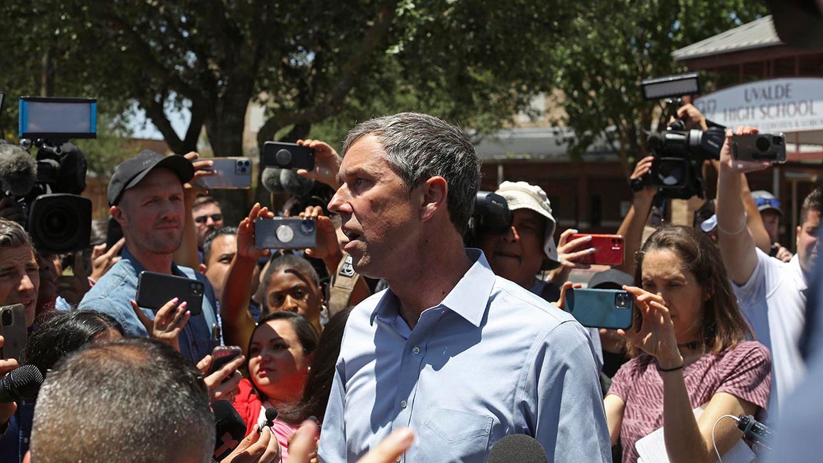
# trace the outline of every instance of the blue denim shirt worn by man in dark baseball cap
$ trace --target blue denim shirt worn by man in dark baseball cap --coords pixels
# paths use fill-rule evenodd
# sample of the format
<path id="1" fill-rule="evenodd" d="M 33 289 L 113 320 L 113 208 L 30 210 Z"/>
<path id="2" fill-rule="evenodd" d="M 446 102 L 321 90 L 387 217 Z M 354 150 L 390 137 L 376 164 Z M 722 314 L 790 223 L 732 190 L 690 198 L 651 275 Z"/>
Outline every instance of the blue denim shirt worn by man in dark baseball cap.
<path id="1" fill-rule="evenodd" d="M 95 286 L 86 292 L 86 296 L 77 307 L 78 310 L 99 311 L 109 316 L 113 316 L 123 325 L 123 330 L 131 336 L 148 336 L 146 328 L 141 323 L 137 315 L 134 314 L 130 300 L 137 297 L 137 276 L 145 268 L 137 262 L 123 248 L 123 255 L 120 260 L 100 278 Z M 206 285 L 206 292 L 203 297 L 202 314 L 192 316 L 188 323 L 180 332 L 180 353 L 193 363 L 199 362 L 207 354 L 212 353 L 212 348 L 216 343 L 212 340 L 212 325 L 217 322 L 214 302 L 214 289 L 208 279 L 193 269 L 180 267 L 171 264 L 171 272 L 174 275 L 185 278 L 197 278 Z M 154 319 L 155 312 L 151 309 L 140 308 L 146 316 Z"/>

